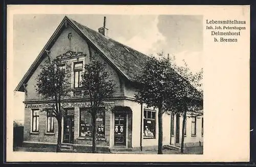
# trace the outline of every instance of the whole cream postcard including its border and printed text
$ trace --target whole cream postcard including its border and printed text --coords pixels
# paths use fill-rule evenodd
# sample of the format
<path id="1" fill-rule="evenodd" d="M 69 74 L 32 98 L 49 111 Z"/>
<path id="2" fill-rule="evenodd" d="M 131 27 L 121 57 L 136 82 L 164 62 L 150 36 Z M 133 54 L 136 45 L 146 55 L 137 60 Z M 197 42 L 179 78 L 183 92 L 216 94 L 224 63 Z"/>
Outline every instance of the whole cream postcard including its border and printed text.
<path id="1" fill-rule="evenodd" d="M 144 8 L 140 14 L 142 7 L 101 7 L 77 8 L 93 11 L 84 13 L 56 7 L 54 13 L 53 6 L 40 12 L 13 6 L 9 157 L 207 161 L 224 158 L 234 145 L 242 150 L 233 156 L 246 157 L 247 135 L 237 145 L 234 134 L 244 132 L 248 118 L 242 105 L 249 73 L 239 45 L 248 39 L 247 10 L 230 8 L 244 15 L 215 19 L 205 11 L 229 8 Z M 226 31 L 239 36 L 217 35 Z"/>

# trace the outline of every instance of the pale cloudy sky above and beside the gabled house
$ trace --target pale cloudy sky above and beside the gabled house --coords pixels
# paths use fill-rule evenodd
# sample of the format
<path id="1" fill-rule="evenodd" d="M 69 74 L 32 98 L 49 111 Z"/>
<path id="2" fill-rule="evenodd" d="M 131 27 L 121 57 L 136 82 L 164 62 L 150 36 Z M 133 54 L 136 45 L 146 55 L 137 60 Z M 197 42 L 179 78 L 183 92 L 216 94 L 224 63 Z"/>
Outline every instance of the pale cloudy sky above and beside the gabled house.
<path id="1" fill-rule="evenodd" d="M 177 64 L 196 73 L 203 67 L 202 15 L 67 15 L 95 31 L 103 26 L 109 37 L 146 55 L 163 52 L 175 55 Z M 16 14 L 13 17 L 13 90 L 23 78 L 65 15 Z M 20 105 L 14 119 L 23 120 L 24 92 L 14 92 Z"/>

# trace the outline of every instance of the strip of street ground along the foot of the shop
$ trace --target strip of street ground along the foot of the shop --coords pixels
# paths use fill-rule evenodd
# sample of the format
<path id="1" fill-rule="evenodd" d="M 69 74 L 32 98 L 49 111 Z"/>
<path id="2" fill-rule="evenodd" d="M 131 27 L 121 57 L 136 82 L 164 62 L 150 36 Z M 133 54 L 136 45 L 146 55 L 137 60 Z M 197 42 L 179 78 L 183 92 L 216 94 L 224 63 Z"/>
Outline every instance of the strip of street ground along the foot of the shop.
<path id="1" fill-rule="evenodd" d="M 24 152 L 55 152 L 55 148 L 32 148 L 32 147 L 16 147 L 13 151 Z M 112 154 L 157 154 L 157 150 L 145 151 L 112 151 Z M 180 151 L 163 149 L 163 154 L 181 154 Z M 203 147 L 188 147 L 184 150 L 184 154 L 203 154 Z"/>

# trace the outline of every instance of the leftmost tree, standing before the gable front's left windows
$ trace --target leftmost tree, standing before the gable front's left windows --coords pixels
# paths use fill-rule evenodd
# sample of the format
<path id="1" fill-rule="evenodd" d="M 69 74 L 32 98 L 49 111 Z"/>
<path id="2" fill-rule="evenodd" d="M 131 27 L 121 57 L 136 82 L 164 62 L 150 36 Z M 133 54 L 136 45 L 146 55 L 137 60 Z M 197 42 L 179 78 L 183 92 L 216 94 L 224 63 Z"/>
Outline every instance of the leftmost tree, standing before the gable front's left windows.
<path id="1" fill-rule="evenodd" d="M 61 106 L 63 97 L 67 96 L 69 87 L 69 68 L 60 68 L 60 60 L 46 60 L 41 65 L 41 71 L 36 80 L 36 91 L 42 98 L 50 99 L 53 102 L 52 108 L 43 109 L 42 111 L 50 112 L 56 118 L 58 123 L 58 137 L 56 152 L 60 152 L 61 147 L 61 121 L 65 115 L 65 110 Z"/>

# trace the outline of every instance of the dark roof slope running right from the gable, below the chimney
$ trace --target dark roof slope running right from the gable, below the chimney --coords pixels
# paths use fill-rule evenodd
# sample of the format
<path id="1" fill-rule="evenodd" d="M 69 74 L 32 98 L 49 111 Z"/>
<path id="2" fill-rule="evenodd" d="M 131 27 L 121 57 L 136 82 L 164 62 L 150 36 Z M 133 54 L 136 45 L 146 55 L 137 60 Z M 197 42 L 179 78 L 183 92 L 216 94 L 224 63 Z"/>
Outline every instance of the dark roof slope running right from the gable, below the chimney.
<path id="1" fill-rule="evenodd" d="M 141 73 L 143 65 L 150 57 L 132 49 L 129 46 L 105 37 L 97 31 L 81 25 L 75 20 L 70 20 L 112 63 L 114 63 L 114 65 L 125 75 L 127 79 L 135 81 L 136 74 Z"/>

